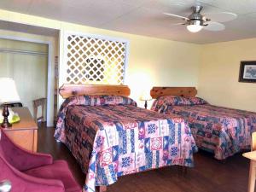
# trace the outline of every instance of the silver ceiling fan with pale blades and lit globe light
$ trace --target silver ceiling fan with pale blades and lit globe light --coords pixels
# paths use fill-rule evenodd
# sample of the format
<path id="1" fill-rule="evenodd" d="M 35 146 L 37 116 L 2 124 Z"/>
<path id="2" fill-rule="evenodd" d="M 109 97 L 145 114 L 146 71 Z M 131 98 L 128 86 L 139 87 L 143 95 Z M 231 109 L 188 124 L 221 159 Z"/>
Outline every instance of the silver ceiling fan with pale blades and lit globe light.
<path id="1" fill-rule="evenodd" d="M 193 10 L 193 13 L 188 17 L 169 14 L 169 13 L 164 13 L 164 14 L 184 20 L 183 23 L 177 23 L 175 25 L 187 26 L 187 29 L 189 30 L 189 32 L 200 32 L 201 29 L 214 31 L 214 32 L 222 31 L 225 29 L 225 26 L 220 22 L 235 20 L 237 17 L 236 14 L 233 14 L 230 12 L 220 12 L 220 13 L 212 13 L 208 15 L 201 15 L 201 10 L 203 9 L 201 5 L 193 6 L 191 9 Z"/>

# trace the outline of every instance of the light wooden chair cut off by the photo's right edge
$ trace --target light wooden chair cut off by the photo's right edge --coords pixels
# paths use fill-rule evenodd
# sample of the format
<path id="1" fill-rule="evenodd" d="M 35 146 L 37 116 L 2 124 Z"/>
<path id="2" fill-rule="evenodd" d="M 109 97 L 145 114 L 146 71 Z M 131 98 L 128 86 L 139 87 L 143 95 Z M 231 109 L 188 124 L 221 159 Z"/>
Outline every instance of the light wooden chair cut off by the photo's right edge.
<path id="1" fill-rule="evenodd" d="M 242 154 L 250 160 L 248 192 L 254 192 L 256 179 L 256 132 L 252 135 L 252 151 Z"/>

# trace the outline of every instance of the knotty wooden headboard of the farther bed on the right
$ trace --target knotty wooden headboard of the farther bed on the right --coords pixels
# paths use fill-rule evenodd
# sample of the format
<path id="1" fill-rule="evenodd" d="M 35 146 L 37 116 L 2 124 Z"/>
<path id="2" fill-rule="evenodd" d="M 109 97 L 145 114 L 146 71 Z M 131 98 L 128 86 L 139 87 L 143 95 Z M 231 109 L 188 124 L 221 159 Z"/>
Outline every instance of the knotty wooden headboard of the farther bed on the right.
<path id="1" fill-rule="evenodd" d="M 156 99 L 159 96 L 196 96 L 195 87 L 153 87 L 150 96 Z"/>

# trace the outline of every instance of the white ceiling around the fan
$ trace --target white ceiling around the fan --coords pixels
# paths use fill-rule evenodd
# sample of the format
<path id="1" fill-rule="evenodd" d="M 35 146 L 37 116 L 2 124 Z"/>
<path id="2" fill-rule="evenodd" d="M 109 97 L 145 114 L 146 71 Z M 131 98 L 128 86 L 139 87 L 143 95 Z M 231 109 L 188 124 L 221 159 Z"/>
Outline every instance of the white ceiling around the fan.
<path id="1" fill-rule="evenodd" d="M 183 20 L 163 15 L 188 16 L 195 3 L 204 6 L 202 14 L 232 12 L 238 17 L 225 22 L 224 31 L 190 33 L 173 25 Z M 1 0 L 0 9 L 196 44 L 256 38 L 256 0 Z"/>

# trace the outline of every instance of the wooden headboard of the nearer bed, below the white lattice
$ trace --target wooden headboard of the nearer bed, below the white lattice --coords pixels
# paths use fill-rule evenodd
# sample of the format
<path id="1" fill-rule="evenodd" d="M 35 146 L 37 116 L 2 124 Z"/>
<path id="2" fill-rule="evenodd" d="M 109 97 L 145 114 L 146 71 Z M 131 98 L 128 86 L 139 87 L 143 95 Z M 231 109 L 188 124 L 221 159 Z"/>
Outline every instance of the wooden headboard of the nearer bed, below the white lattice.
<path id="1" fill-rule="evenodd" d="M 131 91 L 127 85 L 63 84 L 59 92 L 66 99 L 70 96 L 82 95 L 130 96 Z"/>

